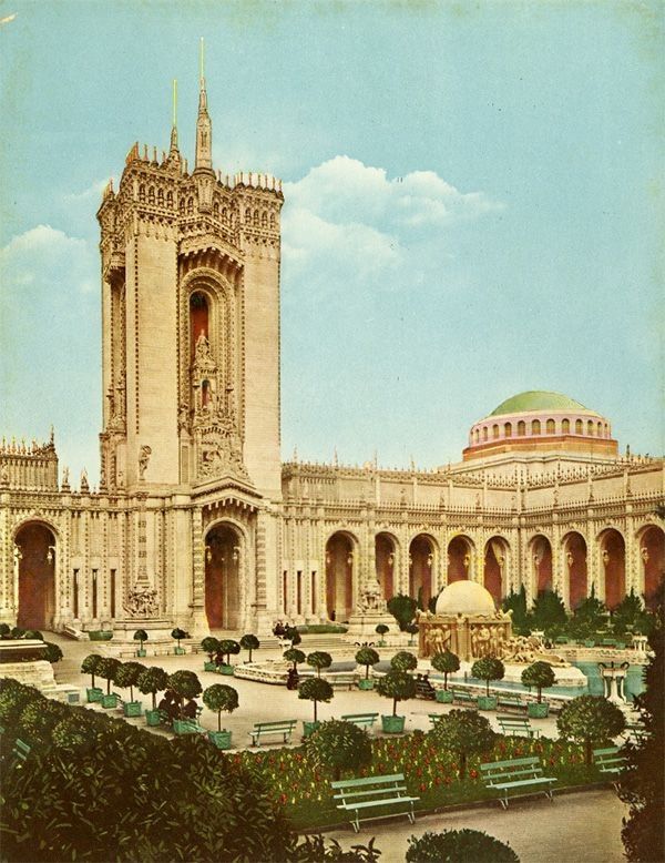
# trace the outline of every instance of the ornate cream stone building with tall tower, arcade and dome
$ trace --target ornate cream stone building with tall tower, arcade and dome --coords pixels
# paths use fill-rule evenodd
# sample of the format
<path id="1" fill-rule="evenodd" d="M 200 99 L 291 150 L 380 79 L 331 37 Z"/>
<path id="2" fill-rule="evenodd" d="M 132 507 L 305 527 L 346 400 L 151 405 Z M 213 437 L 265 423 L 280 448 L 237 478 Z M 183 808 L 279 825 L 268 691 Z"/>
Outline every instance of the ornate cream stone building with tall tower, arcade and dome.
<path id="1" fill-rule="evenodd" d="M 191 172 L 175 125 L 161 159 L 132 148 L 98 213 L 100 485 L 71 487 L 53 436 L 3 440 L 0 619 L 264 632 L 347 619 L 377 581 L 423 605 L 459 579 L 497 600 L 651 597 L 663 459 L 620 456 L 608 420 L 565 396 L 508 399 L 433 470 L 282 464 L 283 200 L 272 176 L 214 171 L 203 78 Z"/>

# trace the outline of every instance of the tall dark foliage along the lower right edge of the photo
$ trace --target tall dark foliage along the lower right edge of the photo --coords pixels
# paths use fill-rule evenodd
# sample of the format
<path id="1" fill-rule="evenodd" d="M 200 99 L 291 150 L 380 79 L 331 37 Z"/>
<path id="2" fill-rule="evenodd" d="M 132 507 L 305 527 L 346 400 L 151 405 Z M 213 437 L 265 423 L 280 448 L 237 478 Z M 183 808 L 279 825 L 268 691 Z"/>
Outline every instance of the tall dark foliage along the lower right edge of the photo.
<path id="1" fill-rule="evenodd" d="M 646 734 L 636 744 L 624 747 L 627 763 L 618 789 L 620 798 L 631 808 L 622 830 L 625 853 L 630 861 L 640 863 L 665 860 L 665 603 L 662 582 L 656 603 L 654 628 L 648 637 L 653 656 L 644 674 L 646 690 L 636 699 Z"/>

